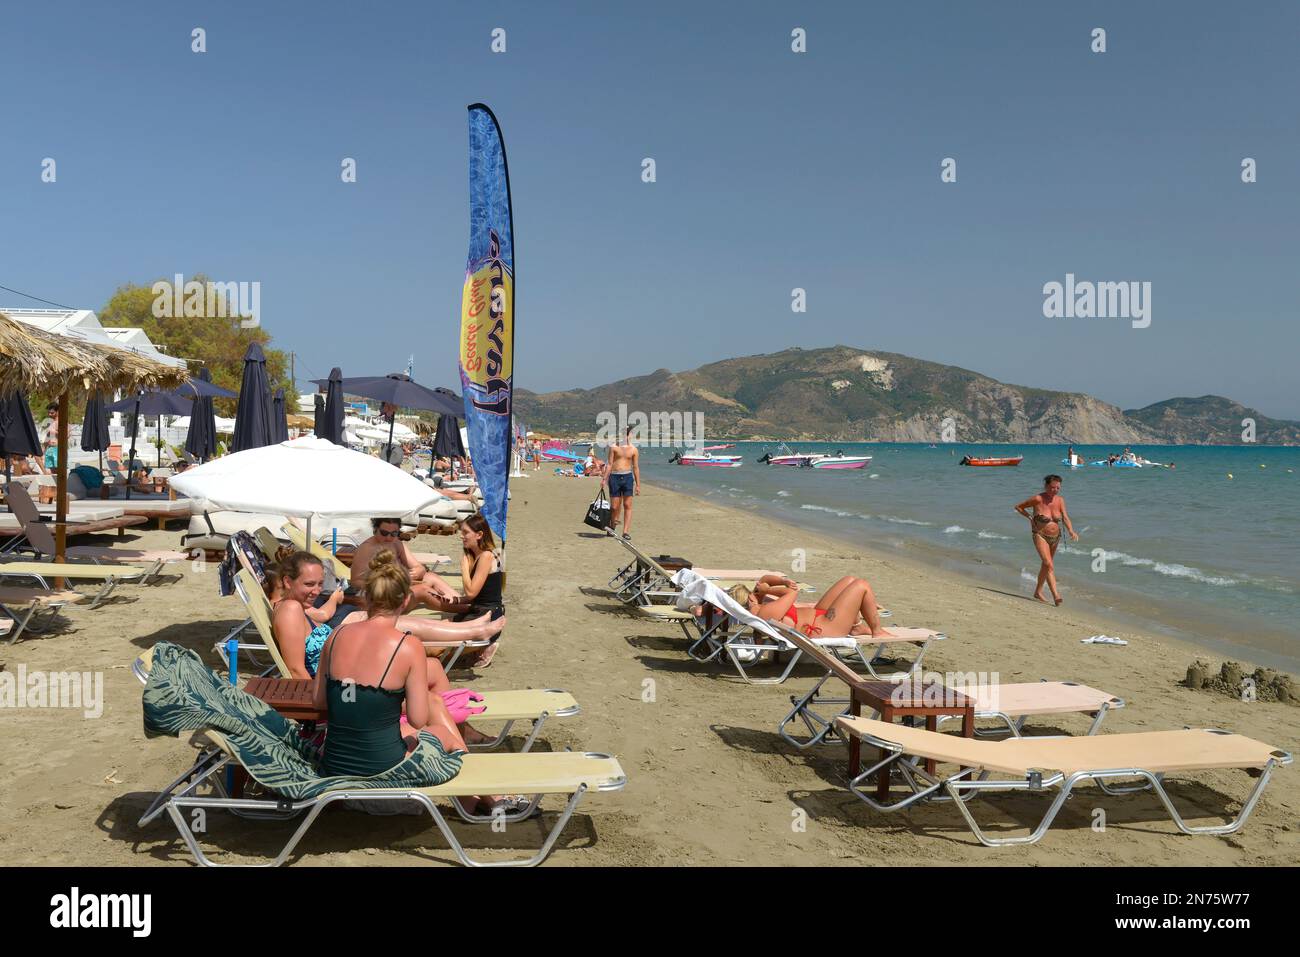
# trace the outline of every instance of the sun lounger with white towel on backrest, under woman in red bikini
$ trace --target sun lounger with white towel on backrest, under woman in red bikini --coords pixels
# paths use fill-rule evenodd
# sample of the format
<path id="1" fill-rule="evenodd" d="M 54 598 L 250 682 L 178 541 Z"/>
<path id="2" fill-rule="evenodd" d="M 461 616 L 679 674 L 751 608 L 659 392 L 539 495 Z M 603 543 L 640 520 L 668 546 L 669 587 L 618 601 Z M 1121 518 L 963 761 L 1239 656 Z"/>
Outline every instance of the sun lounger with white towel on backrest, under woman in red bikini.
<path id="1" fill-rule="evenodd" d="M 672 577 L 672 583 L 675 586 L 681 589 L 681 596 L 677 598 L 679 609 L 689 607 L 692 605 L 708 603 L 722 612 L 719 615 L 719 622 L 715 623 L 714 628 L 701 635 L 696 644 L 686 649 L 686 654 L 699 662 L 719 661 L 723 654 L 727 654 L 732 664 L 734 664 L 736 670 L 740 672 L 740 676 L 750 684 L 780 684 L 789 677 L 802 655 L 802 649 L 790 640 L 789 629 L 777 622 L 768 622 L 767 619 L 751 615 L 729 594 L 727 594 L 719 586 L 719 583 L 703 579 L 690 568 L 677 571 Z M 725 623 L 728 619 L 742 627 L 733 632 L 720 628 L 719 623 Z M 889 625 L 889 632 L 890 635 L 888 637 L 846 635 L 840 637 L 810 638 L 810 641 L 833 655 L 840 658 L 848 657 L 862 662 L 867 674 L 878 680 L 890 680 L 915 674 L 922 666 L 930 645 L 948 637 L 946 635 L 931 631 L 930 628 L 909 628 L 893 624 Z M 889 645 L 904 644 L 918 646 L 916 657 L 911 661 L 907 668 L 890 675 L 876 674 L 876 655 L 879 655 L 880 651 Z M 868 657 L 864 653 L 863 649 L 870 646 L 876 648 L 876 655 Z M 792 653 L 785 670 L 776 677 L 751 677 L 749 672 L 754 663 L 757 663 L 763 654 L 772 651 Z"/>

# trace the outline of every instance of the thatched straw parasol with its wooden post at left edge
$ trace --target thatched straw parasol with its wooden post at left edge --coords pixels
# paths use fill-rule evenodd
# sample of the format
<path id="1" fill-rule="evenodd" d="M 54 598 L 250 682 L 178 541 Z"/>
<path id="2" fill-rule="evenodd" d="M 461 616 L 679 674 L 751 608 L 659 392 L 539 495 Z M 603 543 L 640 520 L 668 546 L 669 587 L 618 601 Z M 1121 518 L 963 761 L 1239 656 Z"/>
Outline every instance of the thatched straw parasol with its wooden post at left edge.
<path id="1" fill-rule="evenodd" d="M 112 337 L 108 337 L 112 339 Z M 66 557 L 69 397 L 84 391 L 176 389 L 188 381 L 183 360 L 160 361 L 113 341 L 46 332 L 0 313 L 0 394 L 58 397 L 58 468 L 55 507 L 55 560 Z"/>

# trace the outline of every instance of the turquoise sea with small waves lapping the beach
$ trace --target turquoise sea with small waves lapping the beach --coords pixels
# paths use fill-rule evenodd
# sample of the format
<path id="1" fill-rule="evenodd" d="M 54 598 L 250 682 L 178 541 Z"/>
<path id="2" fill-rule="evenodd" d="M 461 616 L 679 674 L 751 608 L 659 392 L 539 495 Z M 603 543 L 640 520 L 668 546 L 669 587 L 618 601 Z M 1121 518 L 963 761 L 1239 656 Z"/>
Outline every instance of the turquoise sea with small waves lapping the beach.
<path id="1" fill-rule="evenodd" d="M 1054 472 L 1080 534 L 1079 542 L 1062 538 L 1057 551 L 1067 602 L 1113 614 L 1130 631 L 1175 635 L 1300 672 L 1300 449 L 1141 446 L 1138 455 L 1175 468 L 1070 469 L 1062 465 L 1066 446 L 792 446 L 874 458 L 845 472 L 767 465 L 757 459 L 775 443 L 741 442 L 723 454 L 742 455 L 744 464 L 718 469 L 668 464 L 673 450 L 644 449 L 642 476 L 1028 594 L 1037 559 L 1013 506 Z M 1122 451 L 1075 450 L 1086 462 Z M 1024 460 L 968 468 L 957 464 L 963 455 Z"/>

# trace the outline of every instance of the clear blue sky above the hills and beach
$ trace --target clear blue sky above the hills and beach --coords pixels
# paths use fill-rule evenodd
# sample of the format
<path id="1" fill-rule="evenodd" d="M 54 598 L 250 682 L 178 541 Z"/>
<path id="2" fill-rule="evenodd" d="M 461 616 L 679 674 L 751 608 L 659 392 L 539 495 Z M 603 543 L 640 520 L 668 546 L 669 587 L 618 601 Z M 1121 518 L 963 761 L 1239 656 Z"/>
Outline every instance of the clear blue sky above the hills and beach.
<path id="1" fill-rule="evenodd" d="M 845 343 L 1300 417 L 1297 31 L 1290 3 L 12 4 L 0 283 L 99 308 L 177 272 L 259 281 L 300 378 L 413 352 L 455 386 L 482 100 L 519 386 Z M 1066 273 L 1149 281 L 1152 325 L 1045 319 Z"/>

